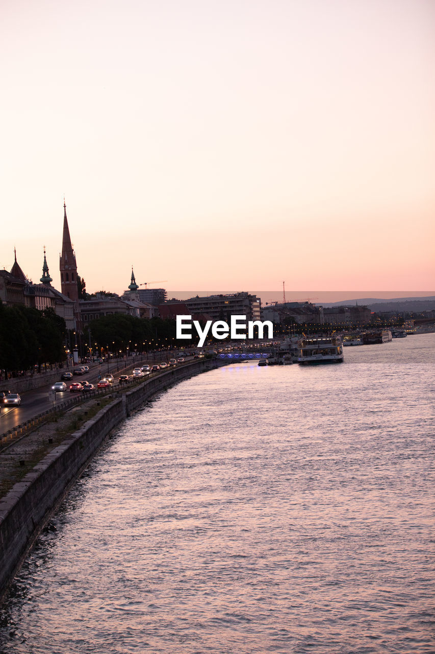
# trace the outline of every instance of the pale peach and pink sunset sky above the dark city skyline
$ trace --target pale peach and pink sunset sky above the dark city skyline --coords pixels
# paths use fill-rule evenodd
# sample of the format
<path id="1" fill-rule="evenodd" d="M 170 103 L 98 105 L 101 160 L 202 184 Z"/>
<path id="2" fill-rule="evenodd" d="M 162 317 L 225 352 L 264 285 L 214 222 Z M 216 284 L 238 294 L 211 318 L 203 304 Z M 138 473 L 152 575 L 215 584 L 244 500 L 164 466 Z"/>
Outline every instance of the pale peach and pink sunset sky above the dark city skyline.
<path id="1" fill-rule="evenodd" d="M 0 267 L 434 294 L 432 0 L 5 0 Z M 388 296 L 388 294 L 387 294 Z M 397 297 L 393 292 L 392 297 Z M 339 300 L 340 297 L 334 298 Z"/>

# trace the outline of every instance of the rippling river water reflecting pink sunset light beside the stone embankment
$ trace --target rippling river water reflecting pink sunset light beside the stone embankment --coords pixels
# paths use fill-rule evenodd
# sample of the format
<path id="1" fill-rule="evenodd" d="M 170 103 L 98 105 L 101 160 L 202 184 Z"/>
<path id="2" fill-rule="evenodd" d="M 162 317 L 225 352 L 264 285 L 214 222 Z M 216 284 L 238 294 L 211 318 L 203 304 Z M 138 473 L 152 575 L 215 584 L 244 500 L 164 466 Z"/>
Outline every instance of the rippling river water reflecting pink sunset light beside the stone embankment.
<path id="1" fill-rule="evenodd" d="M 434 653 L 435 334 L 344 354 L 213 370 L 125 421 L 0 651 Z"/>

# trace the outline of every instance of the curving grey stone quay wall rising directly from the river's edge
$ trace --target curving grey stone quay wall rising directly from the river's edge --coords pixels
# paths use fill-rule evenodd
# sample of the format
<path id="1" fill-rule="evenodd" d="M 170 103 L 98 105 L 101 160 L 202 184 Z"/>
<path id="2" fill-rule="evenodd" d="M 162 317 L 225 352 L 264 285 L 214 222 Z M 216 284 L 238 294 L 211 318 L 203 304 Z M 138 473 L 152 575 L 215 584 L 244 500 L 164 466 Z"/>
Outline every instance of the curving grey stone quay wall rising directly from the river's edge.
<path id="1" fill-rule="evenodd" d="M 153 394 L 216 366 L 213 360 L 200 359 L 171 368 L 120 394 L 40 460 L 0 500 L 0 600 L 40 529 L 109 432 Z"/>

